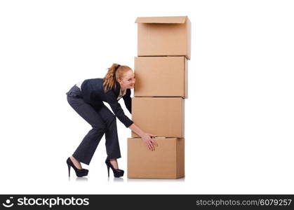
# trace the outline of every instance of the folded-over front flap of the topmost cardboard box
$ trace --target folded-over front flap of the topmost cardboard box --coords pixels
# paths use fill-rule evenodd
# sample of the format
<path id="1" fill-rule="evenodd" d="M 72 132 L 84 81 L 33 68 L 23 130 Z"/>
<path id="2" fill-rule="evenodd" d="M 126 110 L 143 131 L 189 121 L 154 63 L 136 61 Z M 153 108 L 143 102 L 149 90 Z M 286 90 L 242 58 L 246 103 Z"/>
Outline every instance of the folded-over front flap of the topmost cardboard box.
<path id="1" fill-rule="evenodd" d="M 186 22 L 187 16 L 174 16 L 174 17 L 139 17 L 135 23 L 180 23 Z"/>

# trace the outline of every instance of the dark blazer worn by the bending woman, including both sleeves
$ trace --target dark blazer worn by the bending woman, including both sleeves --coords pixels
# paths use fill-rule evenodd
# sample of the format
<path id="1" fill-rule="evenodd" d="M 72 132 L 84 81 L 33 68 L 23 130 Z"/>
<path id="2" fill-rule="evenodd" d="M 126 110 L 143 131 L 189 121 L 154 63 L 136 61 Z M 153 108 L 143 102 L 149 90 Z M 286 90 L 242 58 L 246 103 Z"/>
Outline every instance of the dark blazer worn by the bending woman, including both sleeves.
<path id="1" fill-rule="evenodd" d="M 103 102 L 107 102 L 112 108 L 115 116 L 119 118 L 121 123 L 126 127 L 133 124 L 133 121 L 128 118 L 128 116 L 123 113 L 121 105 L 119 104 L 117 97 L 119 96 L 119 90 L 121 86 L 116 82 L 116 87 L 107 92 L 103 88 L 104 79 L 102 78 L 92 78 L 84 80 L 81 84 L 81 94 L 83 95 L 83 100 L 91 104 L 94 109 L 99 109 L 103 105 Z M 127 89 L 126 94 L 123 96 L 123 101 L 126 104 L 126 108 L 130 113 L 132 113 L 132 100 L 131 100 L 131 90 Z"/>

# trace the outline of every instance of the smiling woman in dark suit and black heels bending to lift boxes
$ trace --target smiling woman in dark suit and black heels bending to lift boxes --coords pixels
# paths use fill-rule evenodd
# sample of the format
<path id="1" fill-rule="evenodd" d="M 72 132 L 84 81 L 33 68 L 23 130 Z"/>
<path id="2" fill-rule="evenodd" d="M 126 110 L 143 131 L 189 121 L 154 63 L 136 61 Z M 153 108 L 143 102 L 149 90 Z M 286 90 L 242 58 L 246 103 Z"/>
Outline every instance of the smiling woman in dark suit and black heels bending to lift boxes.
<path id="1" fill-rule="evenodd" d="M 123 98 L 126 108 L 131 113 L 131 89 L 135 85 L 135 74 L 128 66 L 112 64 L 108 68 L 105 78 L 93 78 L 83 80 L 72 87 L 67 92 L 67 102 L 79 115 L 86 120 L 92 129 L 86 134 L 76 151 L 67 159 L 69 169 L 73 167 L 76 176 L 87 176 L 88 170 L 81 167 L 81 162 L 89 165 L 95 150 L 105 134 L 105 146 L 107 158 L 105 163 L 109 176 L 109 167 L 115 177 L 123 176 L 123 170 L 119 169 L 117 158 L 121 158 L 119 149 L 119 138 L 116 130 L 116 118 L 121 123 L 138 134 L 142 141 L 145 141 L 148 148 L 154 151 L 156 143 L 153 134 L 143 132 L 124 113 L 119 104 L 119 99 Z M 110 111 L 103 102 L 107 102 L 111 107 Z M 115 116 L 114 116 L 115 115 Z"/>

